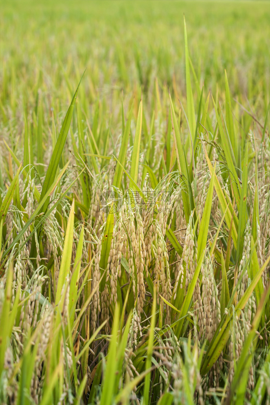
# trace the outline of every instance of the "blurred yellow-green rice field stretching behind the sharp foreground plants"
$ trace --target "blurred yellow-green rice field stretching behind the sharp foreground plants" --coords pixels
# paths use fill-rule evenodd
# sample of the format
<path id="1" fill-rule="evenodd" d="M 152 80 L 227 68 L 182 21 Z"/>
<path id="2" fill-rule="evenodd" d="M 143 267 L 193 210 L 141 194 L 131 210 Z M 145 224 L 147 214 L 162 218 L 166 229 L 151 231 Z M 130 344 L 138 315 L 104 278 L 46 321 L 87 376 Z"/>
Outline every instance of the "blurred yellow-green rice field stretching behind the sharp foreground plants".
<path id="1" fill-rule="evenodd" d="M 81 92 L 89 104 L 119 98 L 122 89 L 129 97 L 142 85 L 151 105 L 155 77 L 171 92 L 175 81 L 182 101 L 184 13 L 200 86 L 204 81 L 206 92 L 222 90 L 226 68 L 232 96 L 264 111 L 270 84 L 266 1 L 2 2 L 1 104 L 14 115 L 23 103 L 34 105 L 39 88 L 57 111 L 59 103 L 68 106 L 67 87 L 73 92 L 85 68 Z"/>

